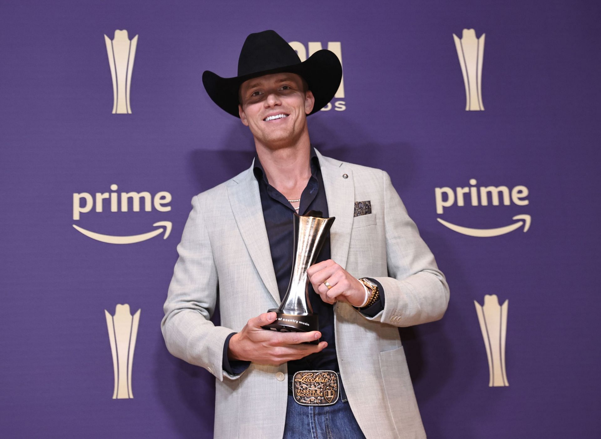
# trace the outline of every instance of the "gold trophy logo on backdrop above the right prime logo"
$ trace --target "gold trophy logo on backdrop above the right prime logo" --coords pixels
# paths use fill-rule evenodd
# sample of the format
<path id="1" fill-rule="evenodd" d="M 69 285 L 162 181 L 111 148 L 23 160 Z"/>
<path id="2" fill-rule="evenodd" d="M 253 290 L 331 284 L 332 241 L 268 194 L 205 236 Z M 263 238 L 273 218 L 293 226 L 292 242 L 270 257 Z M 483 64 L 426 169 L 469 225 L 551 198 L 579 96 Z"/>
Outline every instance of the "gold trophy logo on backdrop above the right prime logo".
<path id="1" fill-rule="evenodd" d="M 482 61 L 484 58 L 484 35 L 476 38 L 474 29 L 463 29 L 461 38 L 453 34 L 457 57 L 465 85 L 465 110 L 482 111 Z"/>

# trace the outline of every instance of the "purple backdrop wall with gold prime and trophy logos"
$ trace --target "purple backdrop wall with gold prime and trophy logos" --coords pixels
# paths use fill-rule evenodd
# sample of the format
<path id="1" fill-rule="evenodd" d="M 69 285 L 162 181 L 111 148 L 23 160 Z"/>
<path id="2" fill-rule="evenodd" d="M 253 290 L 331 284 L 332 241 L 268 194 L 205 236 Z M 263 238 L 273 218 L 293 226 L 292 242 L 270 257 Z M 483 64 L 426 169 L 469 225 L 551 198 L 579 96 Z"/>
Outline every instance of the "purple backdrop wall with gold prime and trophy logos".
<path id="1" fill-rule="evenodd" d="M 593 437 L 599 9 L 2 5 L 2 437 L 212 437 L 214 378 L 167 352 L 162 305 L 191 198 L 254 156 L 201 75 L 264 29 L 340 58 L 311 141 L 387 171 L 447 275 L 444 319 L 400 330 L 429 437 Z"/>

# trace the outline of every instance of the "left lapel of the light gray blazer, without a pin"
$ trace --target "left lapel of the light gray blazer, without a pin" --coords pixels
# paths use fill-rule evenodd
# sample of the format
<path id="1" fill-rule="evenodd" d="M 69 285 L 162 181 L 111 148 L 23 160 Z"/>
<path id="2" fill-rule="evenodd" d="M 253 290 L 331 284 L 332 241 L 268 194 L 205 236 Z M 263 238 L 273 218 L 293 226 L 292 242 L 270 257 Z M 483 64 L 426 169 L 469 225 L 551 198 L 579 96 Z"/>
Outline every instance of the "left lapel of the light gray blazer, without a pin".
<path id="1" fill-rule="evenodd" d="M 242 235 L 246 249 L 251 255 L 252 262 L 273 300 L 276 304 L 279 304 L 281 300 L 279 298 L 278 283 L 275 278 L 275 271 L 273 271 L 259 185 L 252 173 L 253 167 L 254 161 L 246 173 L 241 174 L 238 179 L 234 179 L 234 183 L 228 186 L 228 197 L 240 235 Z"/>

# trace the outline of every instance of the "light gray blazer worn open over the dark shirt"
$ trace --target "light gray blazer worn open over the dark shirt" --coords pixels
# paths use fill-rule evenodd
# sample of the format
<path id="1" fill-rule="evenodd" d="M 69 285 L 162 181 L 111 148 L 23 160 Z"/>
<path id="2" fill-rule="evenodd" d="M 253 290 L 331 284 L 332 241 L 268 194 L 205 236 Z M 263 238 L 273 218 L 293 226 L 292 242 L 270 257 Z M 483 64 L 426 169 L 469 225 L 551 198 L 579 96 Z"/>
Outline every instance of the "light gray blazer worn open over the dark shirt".
<path id="1" fill-rule="evenodd" d="M 442 317 L 449 299 L 445 277 L 385 171 L 317 157 L 329 215 L 336 217 L 332 260 L 357 278 L 376 278 L 385 291 L 384 310 L 374 318 L 348 304 L 334 307 L 350 407 L 367 439 L 426 437 L 397 327 Z M 240 375 L 222 370 L 228 334 L 280 302 L 252 168 L 193 198 L 161 329 L 171 354 L 217 378 L 216 438 L 281 439 L 287 365 L 252 363 Z M 366 200 L 372 213 L 353 218 L 355 201 Z M 216 327 L 209 318 L 218 294 Z"/>

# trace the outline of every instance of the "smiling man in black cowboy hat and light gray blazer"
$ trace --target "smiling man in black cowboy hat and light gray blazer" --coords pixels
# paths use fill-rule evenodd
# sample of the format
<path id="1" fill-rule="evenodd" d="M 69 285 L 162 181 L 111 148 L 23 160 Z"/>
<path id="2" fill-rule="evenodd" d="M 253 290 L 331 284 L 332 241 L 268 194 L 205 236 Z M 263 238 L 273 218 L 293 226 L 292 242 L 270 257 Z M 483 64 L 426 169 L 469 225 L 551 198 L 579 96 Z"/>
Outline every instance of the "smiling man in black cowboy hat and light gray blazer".
<path id="1" fill-rule="evenodd" d="M 235 78 L 204 72 L 257 155 L 192 200 L 162 332 L 216 376 L 216 438 L 425 437 L 397 327 L 440 319 L 448 286 L 388 174 L 311 147 L 307 115 L 340 80 L 332 52 L 301 63 L 273 31 L 246 38 Z M 310 210 L 336 217 L 307 270 L 320 331 L 263 330 L 290 279 L 293 215 Z M 218 295 L 221 326 L 209 321 Z M 339 377 L 336 401 L 297 404 L 289 381 L 306 370 Z"/>

